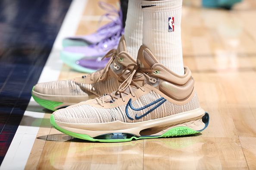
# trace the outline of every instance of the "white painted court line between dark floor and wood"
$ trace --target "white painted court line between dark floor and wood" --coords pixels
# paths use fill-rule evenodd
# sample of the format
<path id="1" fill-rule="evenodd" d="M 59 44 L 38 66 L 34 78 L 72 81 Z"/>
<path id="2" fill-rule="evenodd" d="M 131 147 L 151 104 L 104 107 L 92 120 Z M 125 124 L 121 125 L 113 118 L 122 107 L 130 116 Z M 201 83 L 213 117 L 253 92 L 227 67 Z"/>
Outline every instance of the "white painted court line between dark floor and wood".
<path id="1" fill-rule="evenodd" d="M 62 61 L 59 57 L 62 49 L 62 39 L 75 34 L 86 3 L 87 0 L 72 1 L 38 82 L 49 82 L 58 79 L 62 67 Z M 44 112 L 31 111 L 38 108 L 37 106 L 38 104 L 31 97 L 0 170 L 21 170 L 25 168 L 39 130 L 39 127 L 34 126 L 34 124 L 40 125 L 42 118 L 44 118 Z"/>

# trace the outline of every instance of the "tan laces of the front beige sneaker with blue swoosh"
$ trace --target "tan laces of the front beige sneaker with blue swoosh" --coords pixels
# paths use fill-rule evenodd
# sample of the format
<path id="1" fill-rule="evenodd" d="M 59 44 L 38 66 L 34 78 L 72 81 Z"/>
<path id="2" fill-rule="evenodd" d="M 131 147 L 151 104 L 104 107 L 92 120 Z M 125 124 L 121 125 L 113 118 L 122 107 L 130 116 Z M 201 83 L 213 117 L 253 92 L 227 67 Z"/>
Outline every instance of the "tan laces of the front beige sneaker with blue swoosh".
<path id="1" fill-rule="evenodd" d="M 130 70 L 128 73 L 125 73 L 126 70 L 128 70 L 129 67 L 133 67 L 132 70 Z M 133 78 L 134 78 L 134 74 L 135 73 L 142 73 L 147 79 L 149 79 L 150 82 L 152 83 L 155 83 L 156 82 L 156 79 L 155 78 L 152 78 L 148 75 L 148 73 L 154 73 L 155 70 L 148 70 L 148 69 L 144 69 L 144 68 L 141 68 L 139 66 L 137 66 L 137 64 L 129 64 L 125 70 L 123 70 L 123 73 L 125 73 L 125 75 L 128 75 L 129 76 L 127 77 L 127 79 L 125 79 L 124 82 L 122 82 L 122 84 L 119 86 L 118 88 L 118 91 L 117 94 L 120 94 L 121 98 L 122 98 L 122 101 L 125 102 L 125 100 L 123 99 L 123 94 L 131 94 L 132 97 L 135 97 L 134 96 L 134 92 L 133 90 L 131 89 L 131 83 L 132 85 L 135 85 L 138 89 L 142 90 L 142 91 L 145 91 L 143 87 L 141 87 L 140 85 L 138 85 L 136 82 L 133 81 Z M 122 75 L 121 75 L 122 76 Z M 129 88 L 129 92 L 126 92 L 126 89 Z M 100 106 L 103 106 L 104 107 L 104 103 L 105 103 L 105 99 L 104 97 L 105 96 L 110 96 L 111 97 L 111 100 L 115 101 L 115 99 L 119 99 L 119 97 L 116 97 L 116 95 L 113 95 L 113 93 L 109 93 L 109 94 L 104 94 L 103 96 L 101 97 L 97 97 L 95 98 L 97 100 L 97 103 L 100 105 Z"/>

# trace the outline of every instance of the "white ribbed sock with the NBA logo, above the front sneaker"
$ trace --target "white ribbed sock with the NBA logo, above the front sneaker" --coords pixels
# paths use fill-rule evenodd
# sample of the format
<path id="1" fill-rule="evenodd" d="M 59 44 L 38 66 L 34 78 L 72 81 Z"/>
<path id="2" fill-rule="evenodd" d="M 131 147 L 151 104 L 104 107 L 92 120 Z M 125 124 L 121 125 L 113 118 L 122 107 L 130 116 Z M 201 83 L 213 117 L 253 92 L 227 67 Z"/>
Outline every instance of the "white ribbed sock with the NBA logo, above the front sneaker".
<path id="1" fill-rule="evenodd" d="M 161 64 L 178 75 L 184 75 L 181 7 L 182 0 L 141 1 L 143 45 L 151 50 Z"/>

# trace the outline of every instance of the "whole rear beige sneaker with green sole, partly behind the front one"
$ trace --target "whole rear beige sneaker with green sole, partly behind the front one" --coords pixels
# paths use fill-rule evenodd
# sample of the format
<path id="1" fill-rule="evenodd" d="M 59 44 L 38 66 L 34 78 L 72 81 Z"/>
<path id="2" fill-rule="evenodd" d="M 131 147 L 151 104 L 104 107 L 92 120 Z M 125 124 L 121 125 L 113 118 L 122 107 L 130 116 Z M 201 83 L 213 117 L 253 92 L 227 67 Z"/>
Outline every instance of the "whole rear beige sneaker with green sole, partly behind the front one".
<path id="1" fill-rule="evenodd" d="M 127 53 L 124 36 L 118 48 L 110 50 L 105 57 L 110 60 L 103 70 L 75 79 L 38 83 L 32 89 L 34 100 L 47 109 L 56 110 L 116 90 L 125 79 L 122 72 L 129 64 L 136 63 Z"/>

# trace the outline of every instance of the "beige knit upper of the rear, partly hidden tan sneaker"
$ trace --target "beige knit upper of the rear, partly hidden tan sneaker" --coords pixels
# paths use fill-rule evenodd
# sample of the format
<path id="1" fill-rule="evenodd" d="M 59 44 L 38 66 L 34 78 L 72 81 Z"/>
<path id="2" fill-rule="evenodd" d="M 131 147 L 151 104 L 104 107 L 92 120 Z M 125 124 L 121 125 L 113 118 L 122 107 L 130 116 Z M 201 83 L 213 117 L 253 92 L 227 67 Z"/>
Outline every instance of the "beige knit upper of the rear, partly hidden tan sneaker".
<path id="1" fill-rule="evenodd" d="M 38 83 L 34 86 L 35 95 L 44 94 L 47 97 L 56 95 L 88 96 L 94 94 L 101 96 L 116 90 L 120 85 L 120 81 L 124 79 L 119 77 L 122 75 L 122 71 L 129 64 L 135 63 L 133 58 L 126 52 L 123 36 L 119 41 L 118 48 L 110 50 L 104 58 L 110 58 L 104 69 L 75 79 Z"/>

